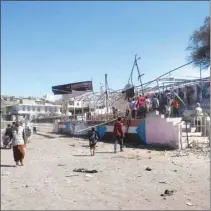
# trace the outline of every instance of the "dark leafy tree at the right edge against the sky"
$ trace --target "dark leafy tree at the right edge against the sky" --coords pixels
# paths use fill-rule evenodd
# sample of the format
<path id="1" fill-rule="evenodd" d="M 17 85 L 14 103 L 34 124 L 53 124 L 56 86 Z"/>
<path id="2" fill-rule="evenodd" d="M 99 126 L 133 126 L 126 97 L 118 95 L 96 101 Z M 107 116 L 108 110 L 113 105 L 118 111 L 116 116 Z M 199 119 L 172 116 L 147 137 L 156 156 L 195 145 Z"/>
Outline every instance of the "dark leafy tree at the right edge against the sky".
<path id="1" fill-rule="evenodd" d="M 206 17 L 203 26 L 193 32 L 187 50 L 194 66 L 202 69 L 210 66 L 210 17 Z"/>

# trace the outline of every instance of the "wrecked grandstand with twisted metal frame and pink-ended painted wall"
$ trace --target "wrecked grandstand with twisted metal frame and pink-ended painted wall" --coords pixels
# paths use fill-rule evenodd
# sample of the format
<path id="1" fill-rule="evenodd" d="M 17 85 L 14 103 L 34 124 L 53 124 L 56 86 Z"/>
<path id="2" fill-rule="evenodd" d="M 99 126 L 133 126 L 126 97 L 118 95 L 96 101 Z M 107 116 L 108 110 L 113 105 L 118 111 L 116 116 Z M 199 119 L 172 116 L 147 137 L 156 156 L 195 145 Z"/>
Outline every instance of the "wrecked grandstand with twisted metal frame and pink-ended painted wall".
<path id="1" fill-rule="evenodd" d="M 188 89 L 194 89 L 195 101 L 202 101 L 202 89 L 206 87 L 210 89 L 210 78 L 203 79 L 177 79 L 166 77 L 169 73 L 176 71 L 191 62 L 175 68 L 156 79 L 142 83 L 138 67 L 138 60 L 135 56 L 133 68 L 130 74 L 128 83 L 123 89 L 111 90 L 108 86 L 107 74 L 105 75 L 105 91 L 101 93 L 93 92 L 92 81 L 78 82 L 72 84 L 65 84 L 52 87 L 54 94 L 62 95 L 64 99 L 64 107 L 68 107 L 68 102 L 71 97 L 78 100 L 85 100 L 88 102 L 88 110 L 81 112 L 80 115 L 75 113 L 70 116 L 64 115 L 66 118 L 57 121 L 57 133 L 68 134 L 74 137 L 87 137 L 89 130 L 95 127 L 100 134 L 102 141 L 113 141 L 114 122 L 117 116 L 123 118 L 125 128 L 125 143 L 132 145 L 161 145 L 163 147 L 181 148 L 182 143 L 182 118 L 165 118 L 163 114 L 158 111 L 149 111 L 145 118 L 131 119 L 125 117 L 125 111 L 128 107 L 128 99 L 133 96 L 148 95 L 149 98 L 155 93 L 162 93 L 165 90 L 177 95 L 178 90 L 183 89 L 185 96 L 187 96 Z M 132 74 L 135 67 L 138 72 L 138 79 L 140 84 L 135 86 L 132 82 Z M 160 83 L 163 85 L 161 86 Z M 165 85 L 164 85 L 165 84 Z M 201 87 L 201 90 L 198 89 Z M 210 109 L 210 96 L 207 97 L 207 110 Z M 180 99 L 184 104 L 184 109 L 191 109 L 187 106 L 187 99 Z M 116 116 L 113 111 L 118 109 Z M 66 112 L 67 109 L 64 109 Z"/>

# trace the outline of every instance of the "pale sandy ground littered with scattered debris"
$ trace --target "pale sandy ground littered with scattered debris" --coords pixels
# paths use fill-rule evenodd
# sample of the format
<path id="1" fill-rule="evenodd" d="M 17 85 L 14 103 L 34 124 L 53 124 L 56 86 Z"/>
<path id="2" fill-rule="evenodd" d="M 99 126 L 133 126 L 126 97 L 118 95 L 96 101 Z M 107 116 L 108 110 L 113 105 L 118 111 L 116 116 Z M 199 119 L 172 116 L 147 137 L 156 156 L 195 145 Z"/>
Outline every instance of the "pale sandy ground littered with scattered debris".
<path id="1" fill-rule="evenodd" d="M 26 148 L 25 166 L 17 168 L 10 167 L 12 150 L 2 149 L 1 209 L 210 209 L 209 151 L 181 156 L 125 148 L 113 154 L 111 144 L 98 143 L 93 157 L 87 144 L 36 135 Z M 99 172 L 76 173 L 75 168 Z M 160 196 L 166 189 L 173 195 Z"/>

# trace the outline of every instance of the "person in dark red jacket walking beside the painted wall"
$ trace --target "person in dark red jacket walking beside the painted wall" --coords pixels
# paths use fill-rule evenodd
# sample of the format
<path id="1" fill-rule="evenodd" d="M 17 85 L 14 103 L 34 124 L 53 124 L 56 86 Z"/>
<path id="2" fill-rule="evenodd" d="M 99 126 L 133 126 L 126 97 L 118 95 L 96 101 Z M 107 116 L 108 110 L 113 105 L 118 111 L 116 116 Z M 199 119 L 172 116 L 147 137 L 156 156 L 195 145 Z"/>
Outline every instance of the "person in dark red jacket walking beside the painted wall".
<path id="1" fill-rule="evenodd" d="M 123 152 L 123 138 L 124 138 L 124 129 L 123 129 L 122 118 L 118 117 L 117 121 L 114 124 L 114 153 L 117 152 L 117 144 L 120 145 L 120 152 Z"/>

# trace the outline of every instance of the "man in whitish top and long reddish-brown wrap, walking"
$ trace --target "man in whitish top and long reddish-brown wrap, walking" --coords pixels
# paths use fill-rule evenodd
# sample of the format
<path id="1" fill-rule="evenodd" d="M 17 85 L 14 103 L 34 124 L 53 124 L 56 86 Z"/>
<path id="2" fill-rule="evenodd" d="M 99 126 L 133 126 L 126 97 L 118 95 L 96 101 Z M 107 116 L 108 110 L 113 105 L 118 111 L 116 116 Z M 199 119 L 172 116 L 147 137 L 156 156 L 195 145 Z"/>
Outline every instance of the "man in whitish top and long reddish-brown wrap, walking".
<path id="1" fill-rule="evenodd" d="M 26 137 L 24 127 L 20 122 L 16 122 L 12 131 L 12 146 L 13 157 L 15 166 L 18 166 L 19 162 L 23 166 L 23 160 L 25 157 Z"/>

